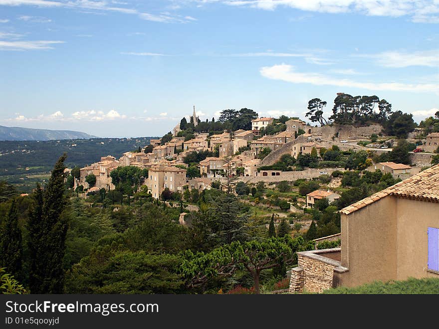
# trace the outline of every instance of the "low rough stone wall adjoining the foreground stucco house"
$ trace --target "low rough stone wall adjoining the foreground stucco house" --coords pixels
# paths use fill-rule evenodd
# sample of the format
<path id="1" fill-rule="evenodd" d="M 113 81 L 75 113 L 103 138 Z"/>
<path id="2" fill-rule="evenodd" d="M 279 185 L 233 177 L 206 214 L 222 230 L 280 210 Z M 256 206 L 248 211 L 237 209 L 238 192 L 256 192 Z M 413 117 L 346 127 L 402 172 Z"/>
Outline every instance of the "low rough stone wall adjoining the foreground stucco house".
<path id="1" fill-rule="evenodd" d="M 333 287 L 334 269 L 341 268 L 341 263 L 325 257 L 326 253 L 340 253 L 340 248 L 297 253 L 298 266 L 291 269 L 290 293 L 301 293 L 304 290 L 321 293 Z"/>

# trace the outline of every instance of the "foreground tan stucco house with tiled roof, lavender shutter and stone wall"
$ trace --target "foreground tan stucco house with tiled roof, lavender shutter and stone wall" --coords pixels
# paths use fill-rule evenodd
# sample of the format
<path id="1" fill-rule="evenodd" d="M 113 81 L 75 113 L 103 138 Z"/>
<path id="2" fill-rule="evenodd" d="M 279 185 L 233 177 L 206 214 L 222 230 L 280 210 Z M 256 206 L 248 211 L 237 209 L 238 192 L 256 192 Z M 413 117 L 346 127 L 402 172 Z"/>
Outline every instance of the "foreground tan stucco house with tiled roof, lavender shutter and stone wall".
<path id="1" fill-rule="evenodd" d="M 290 291 L 439 278 L 439 165 L 347 206 L 340 214 L 341 248 L 298 253 Z"/>

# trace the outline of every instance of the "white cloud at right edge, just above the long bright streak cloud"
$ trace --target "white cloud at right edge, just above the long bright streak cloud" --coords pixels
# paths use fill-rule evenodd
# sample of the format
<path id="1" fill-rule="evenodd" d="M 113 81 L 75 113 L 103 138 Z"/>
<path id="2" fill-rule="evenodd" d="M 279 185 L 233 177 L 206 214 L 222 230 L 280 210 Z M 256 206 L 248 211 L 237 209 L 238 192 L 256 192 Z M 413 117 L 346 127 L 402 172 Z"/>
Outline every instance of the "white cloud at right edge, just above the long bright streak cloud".
<path id="1" fill-rule="evenodd" d="M 439 49 L 414 52 L 384 51 L 379 54 L 354 56 L 373 58 L 385 67 L 439 66 Z"/>

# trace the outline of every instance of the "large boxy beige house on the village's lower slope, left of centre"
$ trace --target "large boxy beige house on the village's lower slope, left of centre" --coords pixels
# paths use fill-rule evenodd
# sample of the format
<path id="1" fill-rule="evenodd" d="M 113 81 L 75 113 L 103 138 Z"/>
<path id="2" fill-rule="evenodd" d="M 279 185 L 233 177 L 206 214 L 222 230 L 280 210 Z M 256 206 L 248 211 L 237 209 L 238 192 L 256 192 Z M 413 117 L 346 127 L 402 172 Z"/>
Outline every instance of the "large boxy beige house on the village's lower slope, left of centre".
<path id="1" fill-rule="evenodd" d="M 162 195 L 165 188 L 169 188 L 171 192 L 177 192 L 177 187 L 186 183 L 186 169 L 174 166 L 153 166 L 149 169 L 148 175 L 145 185 L 156 199 Z"/>

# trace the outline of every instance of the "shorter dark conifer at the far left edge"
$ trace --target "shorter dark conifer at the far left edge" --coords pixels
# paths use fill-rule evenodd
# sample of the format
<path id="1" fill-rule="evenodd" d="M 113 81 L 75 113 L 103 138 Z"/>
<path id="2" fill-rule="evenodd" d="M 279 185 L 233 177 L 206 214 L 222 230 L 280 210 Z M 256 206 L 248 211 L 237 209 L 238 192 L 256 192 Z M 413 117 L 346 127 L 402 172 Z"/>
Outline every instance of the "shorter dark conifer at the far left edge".
<path id="1" fill-rule="evenodd" d="M 18 208 L 12 200 L 6 214 L 3 229 L 0 231 L 0 267 L 20 278 L 22 265 L 21 230 L 18 227 Z"/>

